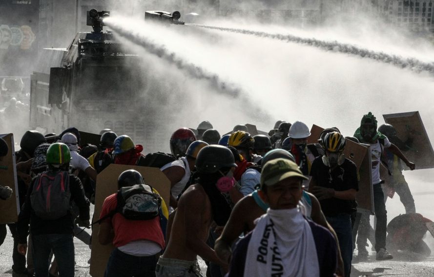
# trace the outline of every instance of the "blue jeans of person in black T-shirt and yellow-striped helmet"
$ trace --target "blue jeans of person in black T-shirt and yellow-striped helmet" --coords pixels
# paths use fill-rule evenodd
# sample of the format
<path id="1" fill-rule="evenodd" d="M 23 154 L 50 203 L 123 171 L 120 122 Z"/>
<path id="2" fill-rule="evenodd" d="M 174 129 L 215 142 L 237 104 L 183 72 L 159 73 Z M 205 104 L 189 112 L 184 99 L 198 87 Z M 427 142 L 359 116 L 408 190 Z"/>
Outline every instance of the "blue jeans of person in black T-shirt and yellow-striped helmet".
<path id="1" fill-rule="evenodd" d="M 339 241 L 342 260 L 344 261 L 345 277 L 350 277 L 352 260 L 352 230 L 351 219 L 348 213 L 339 213 L 335 216 L 326 216 L 327 221 L 336 232 Z"/>

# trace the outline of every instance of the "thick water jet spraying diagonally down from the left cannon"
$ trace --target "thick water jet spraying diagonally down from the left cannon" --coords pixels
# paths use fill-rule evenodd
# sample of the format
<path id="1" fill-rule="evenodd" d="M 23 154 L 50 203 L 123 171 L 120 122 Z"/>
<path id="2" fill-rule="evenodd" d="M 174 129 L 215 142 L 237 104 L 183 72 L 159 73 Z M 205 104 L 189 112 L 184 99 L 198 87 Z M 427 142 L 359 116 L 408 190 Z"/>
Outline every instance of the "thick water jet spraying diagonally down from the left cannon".
<path id="1" fill-rule="evenodd" d="M 238 99 L 246 107 L 246 111 L 251 113 L 252 117 L 260 118 L 264 121 L 270 121 L 271 116 L 259 106 L 253 104 L 248 98 L 248 95 L 242 91 L 241 88 L 233 84 L 228 84 L 221 80 L 221 78 L 214 73 L 207 72 L 200 66 L 186 62 L 184 59 L 178 57 L 176 53 L 169 51 L 164 45 L 154 43 L 143 36 L 135 35 L 133 30 L 126 30 L 111 22 L 106 22 L 115 33 L 124 39 L 142 46 L 147 52 L 158 56 L 166 62 L 175 65 L 178 69 L 185 72 L 190 78 L 204 80 L 219 94 Z"/>

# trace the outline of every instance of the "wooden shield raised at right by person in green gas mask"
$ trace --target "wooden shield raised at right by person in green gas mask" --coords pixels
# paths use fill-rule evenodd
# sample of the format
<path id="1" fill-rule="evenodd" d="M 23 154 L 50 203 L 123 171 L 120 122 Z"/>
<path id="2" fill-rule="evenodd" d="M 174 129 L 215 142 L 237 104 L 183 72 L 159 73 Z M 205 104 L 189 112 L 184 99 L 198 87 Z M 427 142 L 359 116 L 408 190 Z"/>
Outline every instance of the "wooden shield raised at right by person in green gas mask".
<path id="1" fill-rule="evenodd" d="M 433 146 L 418 111 L 383 114 L 383 118 L 386 123 L 393 125 L 401 141 L 413 139 L 409 145 L 410 150 L 403 153 L 416 164 L 416 170 L 434 168 Z M 404 164 L 403 166 L 404 170 L 409 170 Z"/>

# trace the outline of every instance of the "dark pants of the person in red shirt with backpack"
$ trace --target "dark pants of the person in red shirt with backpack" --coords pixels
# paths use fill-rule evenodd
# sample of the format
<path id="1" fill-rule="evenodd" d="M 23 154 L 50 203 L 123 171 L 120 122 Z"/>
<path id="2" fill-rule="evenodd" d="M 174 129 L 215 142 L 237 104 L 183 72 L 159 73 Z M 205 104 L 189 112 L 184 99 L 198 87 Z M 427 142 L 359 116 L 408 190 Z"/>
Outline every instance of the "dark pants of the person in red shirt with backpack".
<path id="1" fill-rule="evenodd" d="M 132 256 L 115 248 L 108 259 L 104 277 L 155 277 L 160 254 L 154 256 Z"/>

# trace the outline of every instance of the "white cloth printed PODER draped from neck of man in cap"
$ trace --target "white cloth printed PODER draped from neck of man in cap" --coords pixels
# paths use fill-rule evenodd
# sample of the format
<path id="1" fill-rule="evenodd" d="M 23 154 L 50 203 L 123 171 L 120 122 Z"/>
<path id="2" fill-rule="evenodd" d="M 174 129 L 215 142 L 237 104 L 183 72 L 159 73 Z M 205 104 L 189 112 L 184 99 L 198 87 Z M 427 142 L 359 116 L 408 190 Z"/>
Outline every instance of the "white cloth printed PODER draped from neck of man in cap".
<path id="1" fill-rule="evenodd" d="M 260 217 L 248 244 L 244 276 L 319 276 L 315 241 L 299 208 L 268 209 Z"/>

